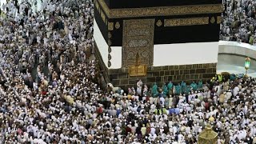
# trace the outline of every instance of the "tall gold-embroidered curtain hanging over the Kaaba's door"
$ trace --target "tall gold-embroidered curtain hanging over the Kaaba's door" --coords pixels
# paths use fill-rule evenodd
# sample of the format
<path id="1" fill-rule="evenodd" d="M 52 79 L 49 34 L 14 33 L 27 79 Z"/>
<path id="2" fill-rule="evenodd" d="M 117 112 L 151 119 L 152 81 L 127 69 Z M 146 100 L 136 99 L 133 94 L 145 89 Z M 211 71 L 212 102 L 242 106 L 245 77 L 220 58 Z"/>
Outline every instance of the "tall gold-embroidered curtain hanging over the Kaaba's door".
<path id="1" fill-rule="evenodd" d="M 122 67 L 134 66 L 136 55 L 140 65 L 153 66 L 154 19 L 123 21 Z"/>

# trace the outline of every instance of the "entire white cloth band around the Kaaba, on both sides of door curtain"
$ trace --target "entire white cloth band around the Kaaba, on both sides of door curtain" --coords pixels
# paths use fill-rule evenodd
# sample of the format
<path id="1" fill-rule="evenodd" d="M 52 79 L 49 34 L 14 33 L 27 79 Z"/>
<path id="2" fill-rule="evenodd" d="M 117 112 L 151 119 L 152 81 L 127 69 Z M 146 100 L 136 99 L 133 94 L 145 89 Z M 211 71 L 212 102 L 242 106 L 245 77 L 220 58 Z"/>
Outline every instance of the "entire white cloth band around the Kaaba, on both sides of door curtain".
<path id="1" fill-rule="evenodd" d="M 122 67 L 122 46 L 110 46 L 110 53 L 106 41 L 97 28 L 94 28 L 94 39 L 97 42 L 102 59 L 107 66 L 110 54 L 111 66 L 109 69 Z M 203 54 L 202 54 L 203 53 Z M 193 42 L 182 44 L 154 45 L 154 65 L 172 66 L 198 63 L 215 63 L 218 61 L 218 42 Z"/>

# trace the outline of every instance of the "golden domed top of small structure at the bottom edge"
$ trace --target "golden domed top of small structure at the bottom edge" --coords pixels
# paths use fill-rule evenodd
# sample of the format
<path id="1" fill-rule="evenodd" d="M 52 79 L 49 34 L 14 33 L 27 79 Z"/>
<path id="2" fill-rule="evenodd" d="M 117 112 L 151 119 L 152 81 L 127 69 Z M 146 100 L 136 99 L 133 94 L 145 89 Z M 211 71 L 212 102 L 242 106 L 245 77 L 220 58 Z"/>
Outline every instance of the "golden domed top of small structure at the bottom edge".
<path id="1" fill-rule="evenodd" d="M 198 144 L 217 144 L 218 134 L 212 130 L 210 124 L 198 135 Z"/>

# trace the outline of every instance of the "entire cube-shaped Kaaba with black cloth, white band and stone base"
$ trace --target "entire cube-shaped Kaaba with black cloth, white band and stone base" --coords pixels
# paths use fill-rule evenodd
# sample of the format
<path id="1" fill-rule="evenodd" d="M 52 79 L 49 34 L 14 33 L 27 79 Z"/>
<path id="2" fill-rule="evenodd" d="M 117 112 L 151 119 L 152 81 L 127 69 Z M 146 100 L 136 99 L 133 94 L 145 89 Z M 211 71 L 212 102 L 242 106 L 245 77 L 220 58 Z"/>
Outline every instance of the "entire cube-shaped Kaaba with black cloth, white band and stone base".
<path id="1" fill-rule="evenodd" d="M 222 7 L 222 0 L 94 0 L 95 54 L 106 82 L 212 78 Z"/>

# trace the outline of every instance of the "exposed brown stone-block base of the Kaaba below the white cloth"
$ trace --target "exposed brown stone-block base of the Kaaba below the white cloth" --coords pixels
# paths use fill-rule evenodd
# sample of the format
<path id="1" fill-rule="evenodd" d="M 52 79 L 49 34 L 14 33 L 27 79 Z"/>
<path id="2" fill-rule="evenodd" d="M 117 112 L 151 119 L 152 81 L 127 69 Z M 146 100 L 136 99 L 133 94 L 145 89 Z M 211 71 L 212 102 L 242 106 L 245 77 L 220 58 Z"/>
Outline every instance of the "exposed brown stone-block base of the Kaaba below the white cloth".
<path id="1" fill-rule="evenodd" d="M 217 63 L 193 64 L 193 65 L 176 65 L 176 66 L 152 66 L 147 68 L 145 77 L 130 77 L 128 69 L 109 69 L 108 79 L 114 86 L 120 86 L 124 89 L 135 86 L 138 79 L 148 86 L 153 86 L 154 82 L 162 86 L 163 82 L 198 82 L 209 81 L 216 74 Z"/>

